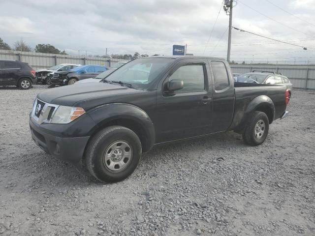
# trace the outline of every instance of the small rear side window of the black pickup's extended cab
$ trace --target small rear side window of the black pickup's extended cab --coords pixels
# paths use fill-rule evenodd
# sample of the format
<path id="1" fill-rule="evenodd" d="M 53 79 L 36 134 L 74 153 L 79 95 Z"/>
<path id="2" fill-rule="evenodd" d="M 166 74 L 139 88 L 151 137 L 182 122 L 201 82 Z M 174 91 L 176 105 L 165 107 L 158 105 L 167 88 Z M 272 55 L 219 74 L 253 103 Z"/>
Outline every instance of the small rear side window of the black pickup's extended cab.
<path id="1" fill-rule="evenodd" d="M 226 67 L 222 61 L 211 61 L 211 68 L 216 91 L 226 89 L 230 86 Z"/>

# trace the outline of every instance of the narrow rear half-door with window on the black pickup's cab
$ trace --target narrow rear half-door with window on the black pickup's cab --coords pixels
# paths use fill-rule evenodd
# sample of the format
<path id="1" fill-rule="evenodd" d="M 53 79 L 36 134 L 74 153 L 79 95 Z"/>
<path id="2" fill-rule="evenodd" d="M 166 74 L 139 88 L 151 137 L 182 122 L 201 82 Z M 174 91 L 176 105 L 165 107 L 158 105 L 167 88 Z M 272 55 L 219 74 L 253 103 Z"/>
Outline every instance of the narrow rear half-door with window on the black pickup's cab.
<path id="1" fill-rule="evenodd" d="M 228 129 L 234 115 L 234 82 L 228 64 L 222 61 L 209 61 L 214 80 L 213 119 L 211 130 L 213 133 Z"/>

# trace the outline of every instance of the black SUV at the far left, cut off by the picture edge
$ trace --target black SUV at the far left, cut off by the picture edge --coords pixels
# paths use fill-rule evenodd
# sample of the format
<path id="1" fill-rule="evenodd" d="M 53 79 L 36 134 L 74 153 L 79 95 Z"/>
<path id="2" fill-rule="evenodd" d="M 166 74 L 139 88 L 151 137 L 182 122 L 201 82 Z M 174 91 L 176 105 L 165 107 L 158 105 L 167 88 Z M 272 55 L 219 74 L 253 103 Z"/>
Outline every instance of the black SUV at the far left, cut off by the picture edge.
<path id="1" fill-rule="evenodd" d="M 35 71 L 28 63 L 0 60 L 0 86 L 15 85 L 20 89 L 30 89 L 36 82 Z"/>

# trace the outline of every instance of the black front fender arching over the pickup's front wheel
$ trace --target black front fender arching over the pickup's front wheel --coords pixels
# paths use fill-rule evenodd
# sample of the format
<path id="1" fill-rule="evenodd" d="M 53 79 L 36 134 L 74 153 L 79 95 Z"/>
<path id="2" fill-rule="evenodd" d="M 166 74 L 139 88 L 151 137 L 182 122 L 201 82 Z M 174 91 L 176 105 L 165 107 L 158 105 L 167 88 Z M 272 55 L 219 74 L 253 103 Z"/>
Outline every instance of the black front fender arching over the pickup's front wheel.
<path id="1" fill-rule="evenodd" d="M 127 103 L 110 103 L 98 106 L 88 111 L 88 115 L 95 121 L 100 129 L 115 120 L 131 120 L 141 126 L 145 134 L 146 146 L 145 149 L 151 149 L 155 144 L 155 128 L 151 118 L 141 108 Z M 96 130 L 92 130 L 94 133 Z"/>

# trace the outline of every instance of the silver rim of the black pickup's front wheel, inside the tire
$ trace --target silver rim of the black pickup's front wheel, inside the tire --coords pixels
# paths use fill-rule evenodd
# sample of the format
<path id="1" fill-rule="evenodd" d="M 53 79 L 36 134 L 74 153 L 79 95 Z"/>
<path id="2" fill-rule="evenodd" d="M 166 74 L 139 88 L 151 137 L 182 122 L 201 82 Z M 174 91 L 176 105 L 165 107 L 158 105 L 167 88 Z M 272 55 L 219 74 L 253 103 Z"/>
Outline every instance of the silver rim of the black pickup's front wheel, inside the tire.
<path id="1" fill-rule="evenodd" d="M 103 156 L 104 166 L 110 172 L 121 172 L 132 159 L 132 148 L 126 141 L 112 143 Z"/>

